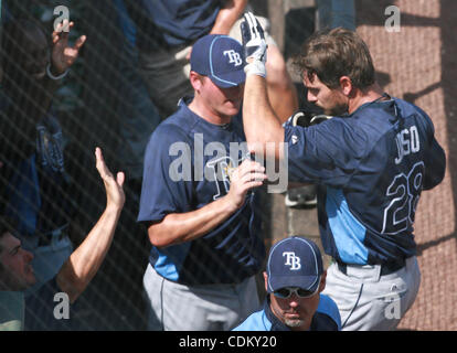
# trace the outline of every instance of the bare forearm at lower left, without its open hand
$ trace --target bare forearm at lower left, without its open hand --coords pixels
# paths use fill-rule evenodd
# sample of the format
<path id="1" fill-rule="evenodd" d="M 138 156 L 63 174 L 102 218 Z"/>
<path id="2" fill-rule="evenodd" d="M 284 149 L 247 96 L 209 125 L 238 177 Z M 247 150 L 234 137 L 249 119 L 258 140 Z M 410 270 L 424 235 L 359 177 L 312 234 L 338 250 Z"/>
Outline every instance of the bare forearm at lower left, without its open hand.
<path id="1" fill-rule="evenodd" d="M 79 247 L 57 274 L 57 284 L 73 302 L 100 267 L 113 240 L 121 207 L 107 206 Z"/>

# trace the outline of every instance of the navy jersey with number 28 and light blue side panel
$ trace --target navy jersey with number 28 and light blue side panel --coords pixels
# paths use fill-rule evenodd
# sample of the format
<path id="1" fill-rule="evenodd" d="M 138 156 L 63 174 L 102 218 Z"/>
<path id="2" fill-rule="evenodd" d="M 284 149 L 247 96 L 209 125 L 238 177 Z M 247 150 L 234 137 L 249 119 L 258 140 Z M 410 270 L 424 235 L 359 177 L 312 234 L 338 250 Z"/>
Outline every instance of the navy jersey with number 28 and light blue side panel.
<path id="1" fill-rule="evenodd" d="M 285 126 L 289 180 L 318 188 L 322 245 L 339 261 L 395 263 L 415 255 L 423 189 L 444 178 L 445 153 L 429 117 L 393 98 L 309 128 Z"/>

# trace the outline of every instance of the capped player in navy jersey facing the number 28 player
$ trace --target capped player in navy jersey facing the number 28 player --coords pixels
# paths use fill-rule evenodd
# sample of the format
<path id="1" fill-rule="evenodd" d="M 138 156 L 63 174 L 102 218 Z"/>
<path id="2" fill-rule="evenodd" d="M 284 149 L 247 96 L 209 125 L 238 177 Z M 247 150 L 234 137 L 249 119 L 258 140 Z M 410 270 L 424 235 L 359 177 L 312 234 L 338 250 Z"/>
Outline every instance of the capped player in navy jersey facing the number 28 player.
<path id="1" fill-rule="evenodd" d="M 150 330 L 230 330 L 259 307 L 254 276 L 265 247 L 254 189 L 266 174 L 242 148 L 243 67 L 236 40 L 196 41 L 194 96 L 146 149 L 138 221 L 153 245 L 144 277 Z"/>

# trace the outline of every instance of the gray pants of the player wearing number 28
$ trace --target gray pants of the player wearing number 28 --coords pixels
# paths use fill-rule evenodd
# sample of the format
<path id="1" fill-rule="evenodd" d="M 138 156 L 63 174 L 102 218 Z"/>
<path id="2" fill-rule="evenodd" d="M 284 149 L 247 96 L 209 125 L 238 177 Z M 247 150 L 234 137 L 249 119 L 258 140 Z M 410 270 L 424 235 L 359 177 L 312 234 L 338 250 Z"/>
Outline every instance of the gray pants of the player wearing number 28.
<path id="1" fill-rule="evenodd" d="M 379 265 L 348 266 L 347 275 L 337 264 L 328 268 L 323 293 L 337 303 L 342 330 L 394 330 L 412 307 L 421 285 L 416 257 L 396 272 L 380 276 L 380 271 Z"/>

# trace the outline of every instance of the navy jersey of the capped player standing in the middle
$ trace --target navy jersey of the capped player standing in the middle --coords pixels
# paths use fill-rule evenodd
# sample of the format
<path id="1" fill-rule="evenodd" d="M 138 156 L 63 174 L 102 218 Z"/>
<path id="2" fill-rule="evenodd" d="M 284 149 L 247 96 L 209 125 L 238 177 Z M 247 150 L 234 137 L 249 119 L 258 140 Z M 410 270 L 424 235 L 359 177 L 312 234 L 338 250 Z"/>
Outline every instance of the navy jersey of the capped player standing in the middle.
<path id="1" fill-rule="evenodd" d="M 159 222 L 224 196 L 230 169 L 246 156 L 241 117 L 208 122 L 184 101 L 152 133 L 145 154 L 138 221 Z M 237 149 L 240 147 L 240 149 Z M 223 224 L 204 236 L 166 248 L 152 247 L 150 264 L 162 277 L 187 285 L 236 284 L 257 274 L 265 257 L 255 192 Z"/>

